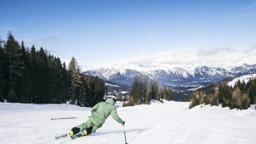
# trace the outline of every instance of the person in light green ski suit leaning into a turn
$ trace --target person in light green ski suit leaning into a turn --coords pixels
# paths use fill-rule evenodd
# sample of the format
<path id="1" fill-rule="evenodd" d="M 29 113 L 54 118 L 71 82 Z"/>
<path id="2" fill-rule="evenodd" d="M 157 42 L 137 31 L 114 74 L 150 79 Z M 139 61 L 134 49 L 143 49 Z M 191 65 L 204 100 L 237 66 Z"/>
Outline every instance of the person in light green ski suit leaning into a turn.
<path id="1" fill-rule="evenodd" d="M 116 97 L 114 95 L 110 95 L 106 98 L 105 102 L 99 102 L 94 107 L 92 107 L 92 115 L 90 116 L 90 119 L 81 125 L 73 127 L 70 131 L 71 138 L 77 138 L 75 134 L 81 132 L 82 136 L 96 132 L 97 128 L 100 128 L 103 123 L 105 123 L 105 120 L 107 117 L 109 117 L 110 114 L 114 120 L 124 126 L 125 122 L 120 117 L 118 117 L 116 112 L 116 106 L 114 106 L 115 102 Z"/>

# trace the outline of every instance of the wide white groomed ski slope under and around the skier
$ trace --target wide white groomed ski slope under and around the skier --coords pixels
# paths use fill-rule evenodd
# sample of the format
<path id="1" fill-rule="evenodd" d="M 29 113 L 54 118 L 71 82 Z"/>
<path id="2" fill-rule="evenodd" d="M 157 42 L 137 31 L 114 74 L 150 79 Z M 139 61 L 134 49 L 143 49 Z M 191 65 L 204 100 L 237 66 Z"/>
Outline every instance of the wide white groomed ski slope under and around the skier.
<path id="1" fill-rule="evenodd" d="M 255 143 L 256 110 L 229 110 L 188 102 L 164 102 L 122 107 L 128 144 Z M 58 117 L 90 116 L 90 108 L 66 104 L 12 104 L 0 102 L 0 143 L 125 143 L 123 126 L 114 119 L 90 136 L 55 140 L 85 119 L 51 120 Z"/>

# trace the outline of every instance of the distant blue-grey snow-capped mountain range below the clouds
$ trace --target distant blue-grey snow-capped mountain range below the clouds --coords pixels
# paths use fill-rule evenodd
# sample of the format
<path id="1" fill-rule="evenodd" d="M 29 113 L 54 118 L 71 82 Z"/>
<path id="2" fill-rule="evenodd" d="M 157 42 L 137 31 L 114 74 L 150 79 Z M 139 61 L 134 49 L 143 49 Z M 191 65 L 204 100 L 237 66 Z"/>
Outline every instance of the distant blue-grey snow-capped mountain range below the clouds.
<path id="1" fill-rule="evenodd" d="M 256 64 L 104 64 L 88 69 L 86 75 L 98 76 L 110 82 L 130 86 L 136 75 L 148 75 L 164 86 L 216 82 L 225 77 L 256 73 Z"/>

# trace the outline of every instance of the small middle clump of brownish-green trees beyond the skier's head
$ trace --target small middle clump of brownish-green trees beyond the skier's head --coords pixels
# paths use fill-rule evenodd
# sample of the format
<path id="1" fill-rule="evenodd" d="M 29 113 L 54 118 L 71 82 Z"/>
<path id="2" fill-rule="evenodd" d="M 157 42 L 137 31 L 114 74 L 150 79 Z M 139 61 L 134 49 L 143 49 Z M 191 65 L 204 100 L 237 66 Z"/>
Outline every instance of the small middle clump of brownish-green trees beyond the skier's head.
<path id="1" fill-rule="evenodd" d="M 173 91 L 170 88 L 161 88 L 158 82 L 148 76 L 137 75 L 133 80 L 131 97 L 127 99 L 127 102 L 123 103 L 123 106 L 150 104 L 151 99 L 171 101 L 173 99 Z"/>

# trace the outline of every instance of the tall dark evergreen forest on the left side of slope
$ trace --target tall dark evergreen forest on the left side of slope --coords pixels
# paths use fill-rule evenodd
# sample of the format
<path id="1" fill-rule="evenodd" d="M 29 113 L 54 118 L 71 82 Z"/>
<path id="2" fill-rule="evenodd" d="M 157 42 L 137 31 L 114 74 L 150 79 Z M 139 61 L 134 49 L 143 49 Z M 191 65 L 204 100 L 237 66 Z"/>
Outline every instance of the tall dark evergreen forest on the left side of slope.
<path id="1" fill-rule="evenodd" d="M 6 42 L 0 39 L 1 102 L 94 106 L 104 93 L 104 81 L 83 75 L 75 58 L 67 67 L 42 47 L 25 48 L 11 32 Z"/>

